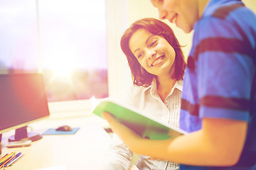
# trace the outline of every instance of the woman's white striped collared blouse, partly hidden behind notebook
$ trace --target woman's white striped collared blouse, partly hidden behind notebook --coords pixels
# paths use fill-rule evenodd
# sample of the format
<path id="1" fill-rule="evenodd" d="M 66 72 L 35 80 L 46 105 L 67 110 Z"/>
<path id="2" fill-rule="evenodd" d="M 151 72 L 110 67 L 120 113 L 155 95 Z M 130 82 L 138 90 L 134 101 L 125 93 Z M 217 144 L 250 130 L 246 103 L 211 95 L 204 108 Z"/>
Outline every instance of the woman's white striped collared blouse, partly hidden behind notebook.
<path id="1" fill-rule="evenodd" d="M 154 116 L 154 118 L 163 123 L 178 127 L 181 108 L 181 91 L 182 80 L 176 82 L 170 94 L 163 102 L 157 93 L 156 79 L 154 79 L 149 87 L 133 85 L 129 91 L 127 91 L 127 96 L 124 96 L 123 101 L 143 113 Z M 127 170 L 129 169 L 132 154 L 133 153 L 124 145 L 122 140 L 114 134 L 102 169 Z M 178 164 L 151 160 L 149 157 L 140 155 L 137 167 L 140 170 L 178 169 Z"/>

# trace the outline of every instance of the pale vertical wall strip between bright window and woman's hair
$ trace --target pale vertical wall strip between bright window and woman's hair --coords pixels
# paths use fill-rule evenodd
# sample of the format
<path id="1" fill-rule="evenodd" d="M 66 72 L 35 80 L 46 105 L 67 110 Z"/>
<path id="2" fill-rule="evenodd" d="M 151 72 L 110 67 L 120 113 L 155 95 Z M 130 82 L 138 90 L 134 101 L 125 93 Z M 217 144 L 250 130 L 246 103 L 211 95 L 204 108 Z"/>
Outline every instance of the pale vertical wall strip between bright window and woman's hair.
<path id="1" fill-rule="evenodd" d="M 128 1 L 107 0 L 106 2 L 109 96 L 119 98 L 122 96 L 122 87 L 131 81 L 129 67 L 119 45 L 124 28 L 129 26 Z"/>

